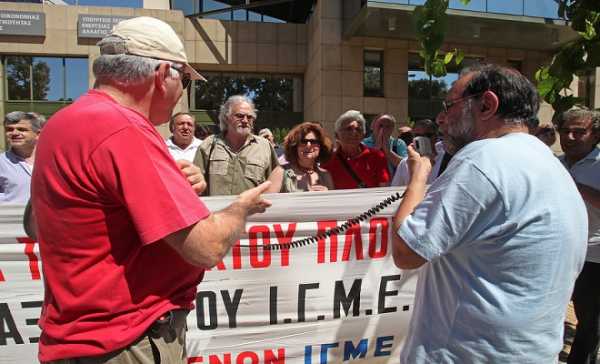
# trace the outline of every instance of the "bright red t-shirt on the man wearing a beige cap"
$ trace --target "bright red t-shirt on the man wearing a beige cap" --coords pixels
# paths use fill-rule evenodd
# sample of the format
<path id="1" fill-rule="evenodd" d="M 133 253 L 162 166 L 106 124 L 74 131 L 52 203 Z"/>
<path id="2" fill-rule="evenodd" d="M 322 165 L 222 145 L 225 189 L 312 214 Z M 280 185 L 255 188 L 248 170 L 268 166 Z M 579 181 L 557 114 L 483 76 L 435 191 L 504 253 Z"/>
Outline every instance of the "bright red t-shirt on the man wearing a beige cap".
<path id="1" fill-rule="evenodd" d="M 210 212 L 143 115 L 96 90 L 60 110 L 37 144 L 32 191 L 40 361 L 123 348 L 193 307 L 204 271 L 161 239 Z"/>

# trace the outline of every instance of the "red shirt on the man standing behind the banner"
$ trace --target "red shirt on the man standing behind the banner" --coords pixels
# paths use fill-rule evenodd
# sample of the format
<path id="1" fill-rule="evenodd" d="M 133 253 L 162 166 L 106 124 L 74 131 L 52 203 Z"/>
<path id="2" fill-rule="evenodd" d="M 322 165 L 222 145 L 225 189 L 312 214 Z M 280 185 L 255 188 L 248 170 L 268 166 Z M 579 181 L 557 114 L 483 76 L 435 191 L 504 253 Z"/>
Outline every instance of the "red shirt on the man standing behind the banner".
<path id="1" fill-rule="evenodd" d="M 358 182 L 352 178 L 340 158 L 345 158 L 354 173 L 367 187 L 379 187 L 382 183 L 390 183 L 387 160 L 382 151 L 360 145 L 362 151 L 356 158 L 347 158 L 338 150 L 331 159 L 322 165 L 331 173 L 336 190 L 358 188 Z"/>

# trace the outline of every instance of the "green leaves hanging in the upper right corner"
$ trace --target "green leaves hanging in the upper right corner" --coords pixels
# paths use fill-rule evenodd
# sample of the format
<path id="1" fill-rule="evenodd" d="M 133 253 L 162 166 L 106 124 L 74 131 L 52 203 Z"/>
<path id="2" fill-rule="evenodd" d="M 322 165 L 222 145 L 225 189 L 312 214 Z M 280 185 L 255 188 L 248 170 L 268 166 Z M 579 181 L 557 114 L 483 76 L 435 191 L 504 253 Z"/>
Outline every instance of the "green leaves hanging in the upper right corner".
<path id="1" fill-rule="evenodd" d="M 580 38 L 564 44 L 550 65 L 535 74 L 540 96 L 552 105 L 555 115 L 581 103 L 567 95 L 574 76 L 583 76 L 600 67 L 600 2 L 598 0 L 559 0 L 558 15 L 567 20 Z"/>

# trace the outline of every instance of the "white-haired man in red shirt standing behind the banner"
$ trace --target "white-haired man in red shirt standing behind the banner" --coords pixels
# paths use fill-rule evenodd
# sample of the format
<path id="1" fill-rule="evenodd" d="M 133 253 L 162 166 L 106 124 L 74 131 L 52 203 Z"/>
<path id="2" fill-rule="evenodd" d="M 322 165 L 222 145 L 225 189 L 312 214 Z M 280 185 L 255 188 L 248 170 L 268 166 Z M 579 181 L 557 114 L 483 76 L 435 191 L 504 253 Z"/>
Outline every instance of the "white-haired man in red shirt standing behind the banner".
<path id="1" fill-rule="evenodd" d="M 336 190 L 389 185 L 385 154 L 361 143 L 365 132 L 365 118 L 356 110 L 348 110 L 336 120 L 335 136 L 339 148 L 323 165 L 331 173 Z"/>

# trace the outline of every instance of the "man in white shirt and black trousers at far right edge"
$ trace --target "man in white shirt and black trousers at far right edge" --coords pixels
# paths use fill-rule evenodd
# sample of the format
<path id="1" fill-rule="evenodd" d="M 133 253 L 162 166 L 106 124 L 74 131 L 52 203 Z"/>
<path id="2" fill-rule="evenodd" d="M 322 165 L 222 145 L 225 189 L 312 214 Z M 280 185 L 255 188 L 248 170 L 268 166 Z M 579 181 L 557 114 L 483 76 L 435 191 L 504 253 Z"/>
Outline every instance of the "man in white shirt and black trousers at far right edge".
<path id="1" fill-rule="evenodd" d="M 600 344 L 600 112 L 572 109 L 558 118 L 565 165 L 588 213 L 588 250 L 575 282 L 573 306 L 577 332 L 567 363 L 595 363 Z"/>

